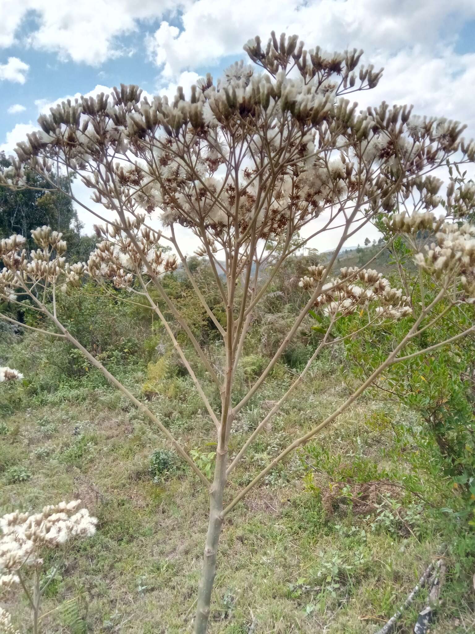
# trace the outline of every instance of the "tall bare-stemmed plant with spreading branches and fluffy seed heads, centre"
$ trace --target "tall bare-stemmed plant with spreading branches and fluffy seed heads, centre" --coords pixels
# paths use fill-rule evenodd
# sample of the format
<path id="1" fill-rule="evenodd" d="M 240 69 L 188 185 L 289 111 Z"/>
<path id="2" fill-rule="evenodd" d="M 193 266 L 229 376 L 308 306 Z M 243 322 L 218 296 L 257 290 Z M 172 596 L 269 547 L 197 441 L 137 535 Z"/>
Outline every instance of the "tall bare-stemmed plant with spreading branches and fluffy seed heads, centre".
<path id="1" fill-rule="evenodd" d="M 453 223 L 474 206 L 474 188 L 449 173 L 442 194 L 445 185 L 438 178 L 452 163 L 474 162 L 475 145 L 461 138 L 464 127 L 446 119 L 416 117 L 411 107 L 390 108 L 384 102 L 358 110 L 347 96 L 372 89 L 381 79 L 381 70 L 360 65 L 362 51 L 307 50 L 297 36 L 282 34 L 277 41 L 274 33 L 265 46 L 256 37 L 244 49 L 253 65 L 236 63 L 217 84 L 206 75 L 191 87 L 189 99 L 181 87 L 168 101 L 159 96 L 148 100 L 137 86 L 121 86 L 110 95 L 68 100 L 51 108 L 50 115 L 39 118 L 41 130 L 18 144 L 18 158 L 3 179 L 8 186 L 21 188 L 24 170 L 29 169 L 53 186 L 51 170 L 60 165 L 66 174 L 82 179 L 92 200 L 102 205 L 89 208 L 71 193 L 99 221 L 99 242 L 87 262 L 68 264 L 61 234 L 46 226 L 33 231 L 38 249 L 29 256 L 22 236 L 4 240 L 1 257 L 6 268 L 0 274 L 0 292 L 13 303 L 28 297 L 52 325 L 44 332 L 76 346 L 162 430 L 208 491 L 209 523 L 194 621 L 197 634 L 205 632 L 208 624 L 225 517 L 291 451 L 336 422 L 388 366 L 427 353 L 414 350 L 412 342 L 429 324 L 437 323 L 442 301 L 450 309 L 475 297 L 475 230 L 469 224 Z M 414 305 L 406 289 L 392 288 L 369 268 L 371 262 L 341 269 L 338 275 L 334 271 L 347 240 L 383 218 L 391 235 L 406 236 L 421 275 L 434 278 L 436 292 L 422 305 Z M 225 322 L 208 306 L 187 266 L 186 246 L 177 227 L 187 228 L 200 241 L 196 254 L 210 264 L 225 306 Z M 253 312 L 286 259 L 329 231 L 339 236 L 336 249 L 326 264 L 311 266 L 301 278 L 295 322 L 260 377 L 244 396 L 238 394 L 236 370 Z M 296 244 L 297 233 L 305 238 Z M 172 252 L 164 254 L 159 241 L 170 245 Z M 163 273 L 180 264 L 220 333 L 222 367 L 210 362 L 162 283 Z M 63 325 L 56 293 L 80 287 L 84 278 L 129 288 L 130 294 L 149 302 L 162 321 L 212 421 L 211 440 L 217 443 L 212 481 L 146 404 Z M 157 293 L 172 318 L 167 319 L 156 303 Z M 234 420 L 265 385 L 309 311 L 325 323 L 319 346 L 240 450 L 229 455 Z M 366 316 L 361 329 L 378 328 L 388 319 L 409 320 L 410 327 L 331 415 L 297 435 L 248 486 L 231 495 L 234 469 L 250 444 L 295 392 L 314 359 L 341 340 L 331 336 L 334 325 L 355 311 Z M 177 329 L 196 352 L 193 363 L 175 336 Z M 358 330 L 349 336 L 357 337 Z M 198 378 L 198 364 L 206 381 Z M 219 395 L 219 408 L 212 405 L 213 391 Z"/>

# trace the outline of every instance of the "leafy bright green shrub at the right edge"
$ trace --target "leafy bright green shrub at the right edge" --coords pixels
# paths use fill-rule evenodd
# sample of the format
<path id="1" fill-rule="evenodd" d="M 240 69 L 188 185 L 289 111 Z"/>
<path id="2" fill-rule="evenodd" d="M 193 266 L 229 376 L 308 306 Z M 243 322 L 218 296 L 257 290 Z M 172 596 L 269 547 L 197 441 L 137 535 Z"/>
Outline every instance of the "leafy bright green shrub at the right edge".
<path id="1" fill-rule="evenodd" d="M 395 260 L 404 266 L 409 287 L 414 289 L 414 306 L 417 308 L 422 299 L 428 305 L 438 288 L 424 275 L 424 290 L 421 290 L 419 278 L 406 266 L 408 252 L 402 240 L 395 241 L 393 253 Z M 440 311 L 443 308 L 444 305 Z M 450 318 L 443 317 L 431 327 L 429 322 L 433 318 L 422 321 L 421 328 L 426 325 L 428 328 L 411 339 L 399 356 L 424 350 L 466 330 L 474 321 L 475 309 L 470 305 L 455 307 L 450 311 Z M 339 321 L 338 335 L 351 335 L 364 323 L 364 315 L 348 316 Z M 356 377 L 364 380 L 371 375 L 413 323 L 411 318 L 386 320 L 381 327 L 348 337 L 346 354 Z M 463 486 L 469 496 L 475 494 L 474 359 L 475 341 L 467 337 L 429 354 L 391 365 L 369 391 L 378 400 L 402 403 L 421 416 L 426 424 L 426 438 L 435 441 L 434 448 L 440 453 L 440 468 L 454 484 Z"/>

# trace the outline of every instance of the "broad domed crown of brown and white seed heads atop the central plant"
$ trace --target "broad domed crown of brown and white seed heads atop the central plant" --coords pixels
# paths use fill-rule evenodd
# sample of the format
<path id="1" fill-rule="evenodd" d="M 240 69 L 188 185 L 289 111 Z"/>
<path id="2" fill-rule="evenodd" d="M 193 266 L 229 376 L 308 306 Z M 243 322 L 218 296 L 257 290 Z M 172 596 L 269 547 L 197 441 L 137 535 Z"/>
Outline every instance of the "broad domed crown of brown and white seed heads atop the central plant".
<path id="1" fill-rule="evenodd" d="M 370 216 L 409 197 L 418 208 L 438 207 L 441 181 L 426 172 L 457 151 L 475 160 L 475 144 L 461 140 L 464 126 L 384 102 L 358 112 L 345 93 L 376 86 L 381 71 L 359 67 L 362 51 L 303 47 L 297 36 L 272 33 L 265 48 L 256 37 L 244 49 L 262 73 L 232 65 L 216 85 L 209 74 L 196 82 L 189 99 L 182 87 L 173 100 L 148 100 L 122 85 L 63 101 L 18 144 L 3 182 L 21 184 L 23 164 L 49 181 L 51 166 L 65 165 L 95 202 L 117 212 L 122 229 L 124 212 L 158 210 L 165 226 L 191 228 L 205 250 L 208 239 L 245 250 L 252 240 L 295 233 L 325 210 L 343 215 L 356 197 Z M 467 186 L 448 191 L 449 201 L 459 212 L 475 207 Z M 112 265 L 109 275 L 122 285 L 131 271 Z"/>

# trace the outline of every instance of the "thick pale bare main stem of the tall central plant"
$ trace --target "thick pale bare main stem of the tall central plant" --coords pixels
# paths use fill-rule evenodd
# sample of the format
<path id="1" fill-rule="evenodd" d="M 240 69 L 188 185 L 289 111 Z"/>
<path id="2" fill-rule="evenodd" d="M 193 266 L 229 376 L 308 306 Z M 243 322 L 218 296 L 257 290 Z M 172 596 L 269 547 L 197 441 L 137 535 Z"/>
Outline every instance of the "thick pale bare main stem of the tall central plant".
<path id="1" fill-rule="evenodd" d="M 221 443 L 219 444 L 221 445 Z M 221 513 L 223 510 L 223 494 L 226 482 L 226 458 L 227 449 L 224 446 L 219 446 L 216 454 L 215 477 L 209 489 L 210 519 L 208 522 L 208 533 L 206 533 L 200 584 L 198 585 L 198 604 L 196 606 L 194 634 L 206 634 L 208 619 L 210 618 L 211 594 L 216 576 L 216 557 L 223 523 Z"/>

